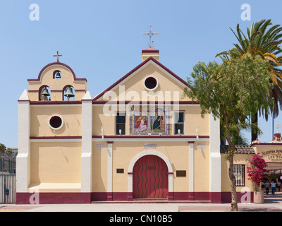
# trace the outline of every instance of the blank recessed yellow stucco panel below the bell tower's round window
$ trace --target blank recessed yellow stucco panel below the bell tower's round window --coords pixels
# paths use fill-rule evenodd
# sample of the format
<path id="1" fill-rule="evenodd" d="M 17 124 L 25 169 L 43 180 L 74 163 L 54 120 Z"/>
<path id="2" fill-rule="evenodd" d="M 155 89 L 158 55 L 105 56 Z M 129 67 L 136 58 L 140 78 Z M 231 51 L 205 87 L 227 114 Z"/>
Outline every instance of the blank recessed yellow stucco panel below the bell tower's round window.
<path id="1" fill-rule="evenodd" d="M 81 142 L 30 145 L 30 183 L 80 183 Z"/>

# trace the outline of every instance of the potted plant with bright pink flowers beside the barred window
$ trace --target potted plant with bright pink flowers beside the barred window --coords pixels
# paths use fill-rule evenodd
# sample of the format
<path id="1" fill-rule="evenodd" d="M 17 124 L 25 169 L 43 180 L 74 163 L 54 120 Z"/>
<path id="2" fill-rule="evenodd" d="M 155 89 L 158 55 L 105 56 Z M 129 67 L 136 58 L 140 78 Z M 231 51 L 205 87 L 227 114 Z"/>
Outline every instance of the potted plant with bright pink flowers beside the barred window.
<path id="1" fill-rule="evenodd" d="M 254 203 L 264 203 L 264 191 L 261 189 L 261 182 L 263 179 L 265 167 L 267 163 L 259 153 L 252 155 L 252 159 L 247 160 L 250 164 L 247 167 L 248 179 L 252 181 L 252 187 L 254 189 Z"/>

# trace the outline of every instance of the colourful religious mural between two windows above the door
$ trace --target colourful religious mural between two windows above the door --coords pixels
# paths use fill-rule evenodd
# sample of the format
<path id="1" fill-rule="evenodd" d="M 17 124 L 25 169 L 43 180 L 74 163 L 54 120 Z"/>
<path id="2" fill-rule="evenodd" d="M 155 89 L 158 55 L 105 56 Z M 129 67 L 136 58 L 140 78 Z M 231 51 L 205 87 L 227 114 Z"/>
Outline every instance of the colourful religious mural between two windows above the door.
<path id="1" fill-rule="evenodd" d="M 130 112 L 130 134 L 169 134 L 169 108 L 133 106 Z"/>

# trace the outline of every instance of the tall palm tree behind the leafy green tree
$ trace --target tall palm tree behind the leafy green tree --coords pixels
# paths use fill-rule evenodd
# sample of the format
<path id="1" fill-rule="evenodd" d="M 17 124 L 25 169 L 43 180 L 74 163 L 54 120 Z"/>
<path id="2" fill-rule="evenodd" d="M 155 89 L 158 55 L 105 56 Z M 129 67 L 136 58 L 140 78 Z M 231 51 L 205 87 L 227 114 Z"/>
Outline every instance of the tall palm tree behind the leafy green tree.
<path id="1" fill-rule="evenodd" d="M 282 65 L 282 56 L 278 57 L 278 54 L 281 54 L 282 52 L 279 45 L 282 42 L 281 31 L 281 25 L 272 25 L 271 20 L 260 20 L 255 24 L 252 23 L 251 28 L 247 28 L 246 37 L 242 30 L 240 30 L 238 24 L 237 34 L 233 30 L 232 32 L 237 38 L 239 44 L 234 44 L 235 47 L 233 49 L 216 54 L 216 57 L 221 57 L 221 59 L 224 60 L 243 57 L 247 53 L 254 58 L 261 57 L 269 60 L 269 70 L 272 73 L 272 79 L 270 82 L 274 83 L 274 88 L 269 90 L 269 92 L 271 92 L 271 97 L 274 100 L 274 107 L 271 109 L 271 113 L 274 117 L 278 116 L 278 106 L 282 109 L 282 70 L 279 69 L 279 66 Z M 264 117 L 267 121 L 268 114 L 259 110 L 259 114 L 262 113 L 264 113 Z M 258 113 L 255 112 L 252 115 L 252 122 L 257 124 L 257 118 Z M 256 131 L 252 131 L 252 141 L 256 138 Z"/>

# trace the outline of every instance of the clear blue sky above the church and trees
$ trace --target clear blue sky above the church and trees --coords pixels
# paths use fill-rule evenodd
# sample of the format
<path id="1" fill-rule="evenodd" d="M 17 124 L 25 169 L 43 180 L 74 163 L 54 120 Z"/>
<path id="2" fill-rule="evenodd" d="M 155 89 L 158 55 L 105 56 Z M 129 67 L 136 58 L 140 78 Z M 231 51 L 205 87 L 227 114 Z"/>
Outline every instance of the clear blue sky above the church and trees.
<path id="1" fill-rule="evenodd" d="M 39 20 L 30 20 L 30 4 L 38 4 Z M 242 4 L 250 4 L 251 20 L 241 20 Z M 233 47 L 229 28 L 245 30 L 253 21 L 281 22 L 281 1 L 166 1 L 166 0 L 1 0 L 0 1 L 0 143 L 18 146 L 18 98 L 28 88 L 27 78 L 56 61 L 68 64 L 78 78 L 87 78 L 92 97 L 141 63 L 148 38 L 160 50 L 159 61 L 180 78 L 190 75 L 198 61 Z M 274 125 L 282 124 L 282 113 Z M 271 141 L 272 120 L 259 119 Z M 276 131 L 276 129 L 274 130 Z M 250 134 L 246 133 L 250 142 Z"/>

